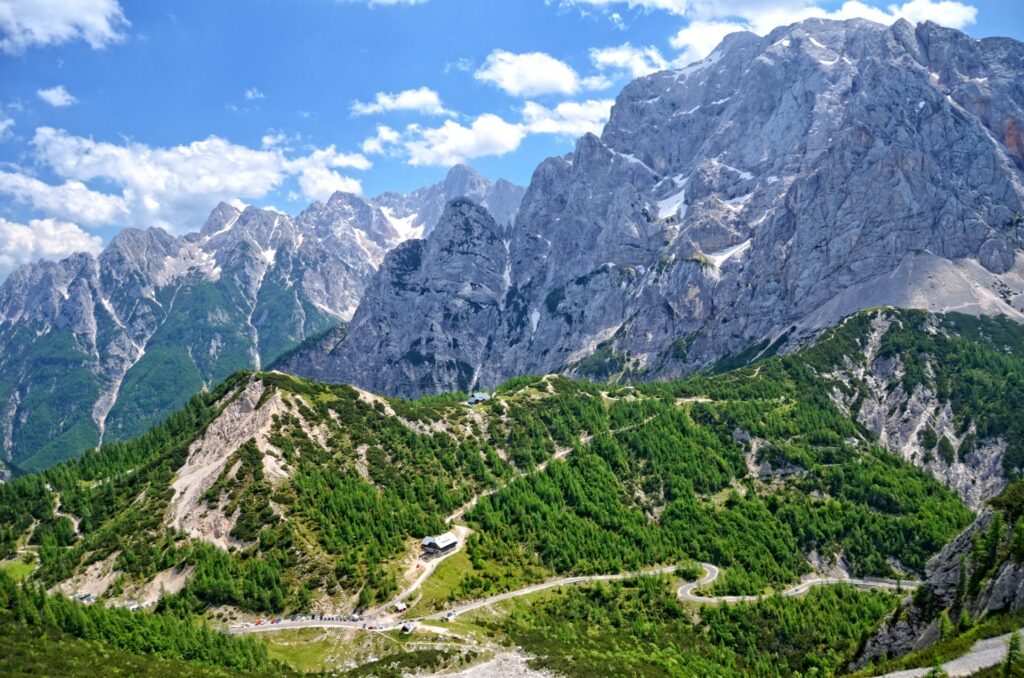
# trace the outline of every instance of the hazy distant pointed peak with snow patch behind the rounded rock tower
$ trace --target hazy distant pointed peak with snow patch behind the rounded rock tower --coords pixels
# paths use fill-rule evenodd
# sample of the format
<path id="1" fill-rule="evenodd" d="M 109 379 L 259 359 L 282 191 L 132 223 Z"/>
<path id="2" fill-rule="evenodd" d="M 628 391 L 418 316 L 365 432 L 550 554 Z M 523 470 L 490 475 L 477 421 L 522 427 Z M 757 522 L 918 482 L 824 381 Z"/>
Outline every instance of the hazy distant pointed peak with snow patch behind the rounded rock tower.
<path id="1" fill-rule="evenodd" d="M 391 223 L 408 238 L 428 236 L 441 218 L 444 206 L 457 198 L 481 205 L 501 224 L 515 220 L 526 188 L 505 179 L 492 182 L 466 165 L 449 170 L 440 183 L 409 195 L 384 193 L 374 199 Z"/>

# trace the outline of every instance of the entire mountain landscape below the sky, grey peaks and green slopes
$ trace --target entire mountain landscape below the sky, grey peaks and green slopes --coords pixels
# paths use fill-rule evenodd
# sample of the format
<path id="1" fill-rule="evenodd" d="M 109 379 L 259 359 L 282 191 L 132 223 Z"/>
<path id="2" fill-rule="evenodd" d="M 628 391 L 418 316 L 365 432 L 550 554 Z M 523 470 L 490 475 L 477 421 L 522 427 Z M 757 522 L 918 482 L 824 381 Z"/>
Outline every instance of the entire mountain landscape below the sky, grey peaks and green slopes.
<path id="1" fill-rule="evenodd" d="M 15 270 L 0 671 L 995 675 L 1022 74 L 928 23 L 737 33 L 526 188 L 222 204 Z"/>

